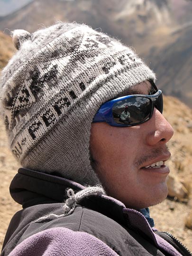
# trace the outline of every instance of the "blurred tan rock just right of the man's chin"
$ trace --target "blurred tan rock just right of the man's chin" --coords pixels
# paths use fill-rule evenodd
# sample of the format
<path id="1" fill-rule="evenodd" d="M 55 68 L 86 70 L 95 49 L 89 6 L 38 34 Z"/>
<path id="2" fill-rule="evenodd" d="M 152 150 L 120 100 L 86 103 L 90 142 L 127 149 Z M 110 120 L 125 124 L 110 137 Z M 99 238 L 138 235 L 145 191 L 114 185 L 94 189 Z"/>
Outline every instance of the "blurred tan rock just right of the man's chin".
<path id="1" fill-rule="evenodd" d="M 186 198 L 188 191 L 177 177 L 169 175 L 167 177 L 167 187 L 169 191 L 168 196 L 174 198 L 176 197 L 179 201 L 182 201 L 183 198 Z"/>

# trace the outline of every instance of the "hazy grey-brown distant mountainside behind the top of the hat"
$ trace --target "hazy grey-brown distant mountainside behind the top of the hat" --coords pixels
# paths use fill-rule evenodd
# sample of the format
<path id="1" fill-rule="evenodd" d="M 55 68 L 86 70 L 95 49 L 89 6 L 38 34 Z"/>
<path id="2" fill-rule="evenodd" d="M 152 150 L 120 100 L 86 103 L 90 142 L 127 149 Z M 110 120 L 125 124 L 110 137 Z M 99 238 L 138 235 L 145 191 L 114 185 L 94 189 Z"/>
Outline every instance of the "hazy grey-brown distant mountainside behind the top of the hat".
<path id="1" fill-rule="evenodd" d="M 134 46 L 157 73 L 159 87 L 192 107 L 191 13 L 189 0 L 33 0 L 1 17 L 0 30 L 32 32 L 55 20 L 102 29 Z"/>

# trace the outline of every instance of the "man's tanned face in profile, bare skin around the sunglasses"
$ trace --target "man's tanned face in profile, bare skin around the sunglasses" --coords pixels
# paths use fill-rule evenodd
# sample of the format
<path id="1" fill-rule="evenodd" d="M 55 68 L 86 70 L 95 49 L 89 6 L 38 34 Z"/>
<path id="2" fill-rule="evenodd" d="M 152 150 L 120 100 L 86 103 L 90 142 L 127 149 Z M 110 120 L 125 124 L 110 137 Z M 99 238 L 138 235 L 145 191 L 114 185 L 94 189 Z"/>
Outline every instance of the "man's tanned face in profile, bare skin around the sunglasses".
<path id="1" fill-rule="evenodd" d="M 130 92 L 148 94 L 150 89 L 151 84 L 143 82 Z M 170 157 L 166 143 L 173 133 L 173 128 L 157 109 L 150 120 L 134 127 L 92 123 L 93 165 L 107 194 L 133 209 L 163 201 L 167 196 L 169 174 L 165 161 Z M 160 167 L 146 168 L 155 163 Z"/>

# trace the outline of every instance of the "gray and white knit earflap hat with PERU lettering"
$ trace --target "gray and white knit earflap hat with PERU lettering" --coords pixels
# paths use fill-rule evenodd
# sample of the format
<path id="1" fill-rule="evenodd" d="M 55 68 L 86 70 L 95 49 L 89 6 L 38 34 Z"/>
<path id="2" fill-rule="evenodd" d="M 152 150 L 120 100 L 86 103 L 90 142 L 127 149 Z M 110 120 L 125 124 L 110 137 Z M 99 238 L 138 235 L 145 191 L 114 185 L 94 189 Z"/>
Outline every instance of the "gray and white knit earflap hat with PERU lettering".
<path id="1" fill-rule="evenodd" d="M 91 121 L 101 104 L 155 74 L 118 40 L 76 23 L 15 30 L 0 78 L 9 145 L 28 169 L 95 185 Z"/>

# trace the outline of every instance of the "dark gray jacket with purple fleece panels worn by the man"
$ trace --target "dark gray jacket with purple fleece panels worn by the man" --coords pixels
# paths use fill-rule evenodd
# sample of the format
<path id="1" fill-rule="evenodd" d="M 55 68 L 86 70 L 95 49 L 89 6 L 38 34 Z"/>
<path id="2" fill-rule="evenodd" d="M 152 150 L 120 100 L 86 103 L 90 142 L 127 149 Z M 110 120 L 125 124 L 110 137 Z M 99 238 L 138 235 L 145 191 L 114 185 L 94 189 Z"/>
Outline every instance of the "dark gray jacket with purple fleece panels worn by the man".
<path id="1" fill-rule="evenodd" d="M 140 212 L 105 195 L 85 198 L 71 215 L 58 217 L 66 188 L 77 192 L 82 186 L 18 170 L 10 193 L 24 209 L 10 222 L 1 256 L 192 256 L 174 237 L 152 229 Z"/>

